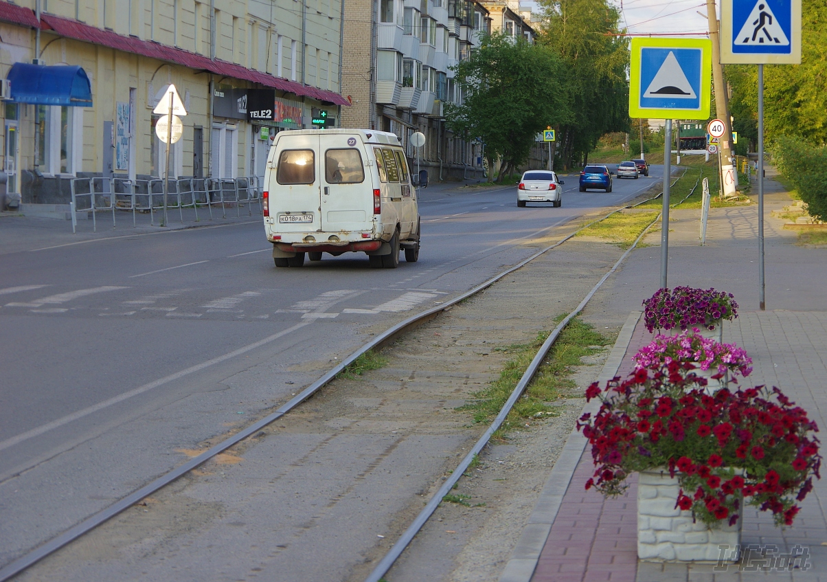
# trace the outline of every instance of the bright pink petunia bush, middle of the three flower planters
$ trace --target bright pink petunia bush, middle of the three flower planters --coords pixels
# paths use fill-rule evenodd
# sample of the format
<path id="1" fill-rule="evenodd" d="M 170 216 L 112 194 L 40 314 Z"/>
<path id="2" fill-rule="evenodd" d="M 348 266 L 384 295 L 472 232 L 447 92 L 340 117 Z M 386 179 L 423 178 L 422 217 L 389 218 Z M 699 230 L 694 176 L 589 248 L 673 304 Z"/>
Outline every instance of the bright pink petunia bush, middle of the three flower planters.
<path id="1" fill-rule="evenodd" d="M 736 344 L 719 344 L 715 339 L 705 338 L 698 329 L 685 331 L 680 335 L 657 335 L 651 344 L 643 346 L 632 359 L 636 368 L 662 368 L 672 362 L 691 362 L 701 370 L 716 370 L 740 374 L 744 378 L 752 373 L 753 359 Z"/>

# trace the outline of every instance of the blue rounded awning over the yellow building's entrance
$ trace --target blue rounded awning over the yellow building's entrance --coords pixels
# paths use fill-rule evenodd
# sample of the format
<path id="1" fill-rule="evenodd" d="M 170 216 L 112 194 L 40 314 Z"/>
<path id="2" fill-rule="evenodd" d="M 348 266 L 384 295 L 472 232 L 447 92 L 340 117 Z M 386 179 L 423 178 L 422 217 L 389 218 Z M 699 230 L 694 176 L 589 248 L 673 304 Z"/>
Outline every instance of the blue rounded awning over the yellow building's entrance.
<path id="1" fill-rule="evenodd" d="M 15 103 L 92 107 L 92 85 L 86 71 L 77 65 L 15 63 L 7 79 Z"/>

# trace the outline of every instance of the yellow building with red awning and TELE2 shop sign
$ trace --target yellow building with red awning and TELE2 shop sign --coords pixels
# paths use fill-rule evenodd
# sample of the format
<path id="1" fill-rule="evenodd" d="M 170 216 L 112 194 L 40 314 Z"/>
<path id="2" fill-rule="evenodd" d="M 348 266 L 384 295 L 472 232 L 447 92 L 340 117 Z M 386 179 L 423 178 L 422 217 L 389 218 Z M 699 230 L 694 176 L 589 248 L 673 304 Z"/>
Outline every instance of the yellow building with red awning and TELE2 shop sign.
<path id="1" fill-rule="evenodd" d="M 339 123 L 342 0 L 0 0 L 8 190 L 64 203 L 74 176 L 165 175 L 153 109 L 187 116 L 170 177 L 263 176 L 275 133 Z M 36 66 L 32 66 L 35 64 Z M 14 79 L 17 79 L 15 81 Z"/>

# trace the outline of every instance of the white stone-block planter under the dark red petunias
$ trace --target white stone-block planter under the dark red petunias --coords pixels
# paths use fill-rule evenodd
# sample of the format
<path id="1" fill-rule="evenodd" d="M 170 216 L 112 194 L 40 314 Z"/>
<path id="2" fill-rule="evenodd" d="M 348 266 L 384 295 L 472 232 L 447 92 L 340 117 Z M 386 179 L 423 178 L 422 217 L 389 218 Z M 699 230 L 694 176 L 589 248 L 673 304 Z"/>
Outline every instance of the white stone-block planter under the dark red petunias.
<path id="1" fill-rule="evenodd" d="M 638 560 L 648 562 L 717 562 L 723 556 L 737 561 L 742 519 L 709 529 L 692 522 L 692 512 L 675 507 L 681 487 L 669 469 L 643 471 L 638 479 Z"/>

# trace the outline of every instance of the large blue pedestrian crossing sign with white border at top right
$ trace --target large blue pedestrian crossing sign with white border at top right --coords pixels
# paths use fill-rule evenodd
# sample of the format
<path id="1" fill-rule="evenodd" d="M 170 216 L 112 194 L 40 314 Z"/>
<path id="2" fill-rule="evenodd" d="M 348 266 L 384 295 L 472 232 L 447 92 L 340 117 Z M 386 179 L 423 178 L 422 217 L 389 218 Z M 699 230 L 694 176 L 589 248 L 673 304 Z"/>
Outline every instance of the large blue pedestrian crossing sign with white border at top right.
<path id="1" fill-rule="evenodd" d="M 801 63 L 801 0 L 722 0 L 721 62 Z"/>

